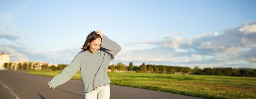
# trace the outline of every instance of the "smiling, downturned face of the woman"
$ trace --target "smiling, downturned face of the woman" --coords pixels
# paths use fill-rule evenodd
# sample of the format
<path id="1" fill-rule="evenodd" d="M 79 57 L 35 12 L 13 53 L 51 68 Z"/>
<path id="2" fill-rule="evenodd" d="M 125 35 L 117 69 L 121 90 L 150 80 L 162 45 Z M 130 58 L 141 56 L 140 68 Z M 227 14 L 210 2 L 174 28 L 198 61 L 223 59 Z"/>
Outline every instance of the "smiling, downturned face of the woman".
<path id="1" fill-rule="evenodd" d="M 90 51 L 92 53 L 97 52 L 101 48 L 101 38 L 96 38 L 92 42 L 89 42 L 88 45 L 90 46 Z"/>

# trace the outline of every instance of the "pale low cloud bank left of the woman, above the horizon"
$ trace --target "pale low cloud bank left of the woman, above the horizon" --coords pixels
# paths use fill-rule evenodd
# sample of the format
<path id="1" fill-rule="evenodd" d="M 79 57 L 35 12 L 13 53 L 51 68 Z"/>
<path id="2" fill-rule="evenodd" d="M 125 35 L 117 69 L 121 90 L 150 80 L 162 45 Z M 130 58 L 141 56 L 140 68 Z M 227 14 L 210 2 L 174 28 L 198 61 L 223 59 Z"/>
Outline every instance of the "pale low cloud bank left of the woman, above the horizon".
<path id="1" fill-rule="evenodd" d="M 15 45 L 1 45 L 0 51 L 10 53 L 10 61 L 29 60 L 30 62 L 50 62 L 53 64 L 70 64 L 74 56 L 81 51 L 79 48 L 67 48 L 58 51 L 35 52 L 32 49 Z"/>

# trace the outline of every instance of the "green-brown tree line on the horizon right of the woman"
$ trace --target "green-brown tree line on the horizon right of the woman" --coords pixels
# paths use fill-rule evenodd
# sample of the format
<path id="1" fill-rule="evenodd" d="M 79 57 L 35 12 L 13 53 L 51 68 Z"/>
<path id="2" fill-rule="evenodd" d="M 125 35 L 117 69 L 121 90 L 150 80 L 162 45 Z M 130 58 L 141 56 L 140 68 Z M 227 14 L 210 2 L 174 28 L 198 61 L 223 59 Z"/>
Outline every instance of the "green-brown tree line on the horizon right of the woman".
<path id="1" fill-rule="evenodd" d="M 220 75 L 220 76 L 243 76 L 256 77 L 256 69 L 249 68 L 199 68 L 195 66 L 193 69 L 181 66 L 164 66 L 164 65 L 145 65 L 133 66 L 132 62 L 129 66 L 118 63 L 116 66 L 109 66 L 112 71 L 115 70 L 133 70 L 136 73 L 170 73 L 170 74 L 191 74 L 191 75 Z"/>

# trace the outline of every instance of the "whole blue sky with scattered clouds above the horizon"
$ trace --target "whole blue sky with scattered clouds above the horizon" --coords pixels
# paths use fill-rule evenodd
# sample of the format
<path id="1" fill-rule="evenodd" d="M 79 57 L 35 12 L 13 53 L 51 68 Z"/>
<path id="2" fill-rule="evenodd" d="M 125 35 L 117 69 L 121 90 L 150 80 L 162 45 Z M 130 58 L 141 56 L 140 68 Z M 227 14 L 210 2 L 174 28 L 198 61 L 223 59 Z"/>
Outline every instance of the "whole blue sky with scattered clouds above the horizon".
<path id="1" fill-rule="evenodd" d="M 256 0 L 1 0 L 0 52 L 70 64 L 99 30 L 110 63 L 256 68 Z"/>

